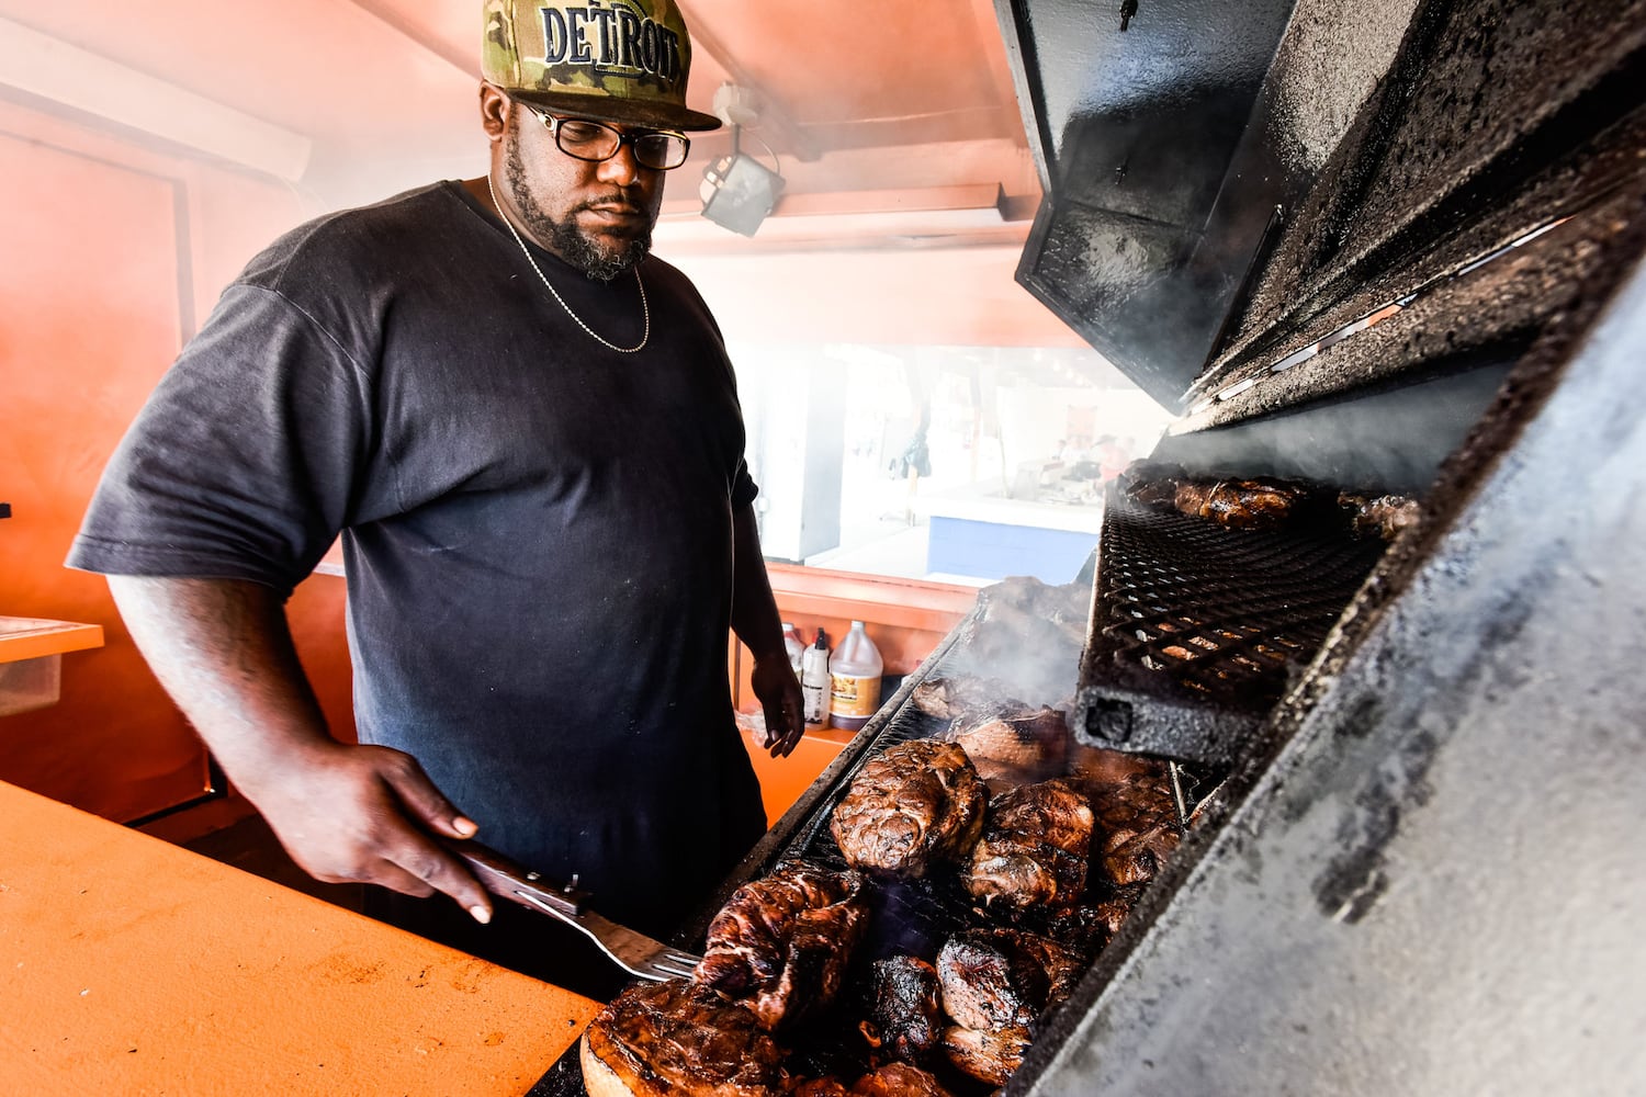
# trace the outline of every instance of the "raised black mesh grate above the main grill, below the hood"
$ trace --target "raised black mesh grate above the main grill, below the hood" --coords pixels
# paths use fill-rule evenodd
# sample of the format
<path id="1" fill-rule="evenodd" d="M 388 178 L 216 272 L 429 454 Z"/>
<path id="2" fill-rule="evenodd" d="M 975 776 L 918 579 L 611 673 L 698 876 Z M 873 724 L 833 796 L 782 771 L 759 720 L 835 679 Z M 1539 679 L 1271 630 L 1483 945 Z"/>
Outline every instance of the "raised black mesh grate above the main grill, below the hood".
<path id="1" fill-rule="evenodd" d="M 1231 763 L 1383 549 L 1327 525 L 1230 530 L 1111 488 L 1076 737 Z"/>

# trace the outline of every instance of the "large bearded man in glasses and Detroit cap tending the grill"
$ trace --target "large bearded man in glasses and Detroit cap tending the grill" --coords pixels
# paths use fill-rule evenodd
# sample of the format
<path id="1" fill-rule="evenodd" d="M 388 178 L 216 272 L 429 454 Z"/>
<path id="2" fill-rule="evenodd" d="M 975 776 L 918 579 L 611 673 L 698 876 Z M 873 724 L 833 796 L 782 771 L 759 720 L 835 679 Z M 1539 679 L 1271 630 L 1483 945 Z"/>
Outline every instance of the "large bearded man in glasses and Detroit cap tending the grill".
<path id="1" fill-rule="evenodd" d="M 487 176 L 252 260 L 69 562 L 110 576 L 305 870 L 374 903 L 444 893 L 382 913 L 558 979 L 556 923 L 494 908 L 436 835 L 578 873 L 601 913 L 665 933 L 764 831 L 728 625 L 770 752 L 803 722 L 719 331 L 647 255 L 685 132 L 719 125 L 685 107 L 685 25 L 670 0 L 486 16 Z M 283 613 L 339 533 L 360 745 L 328 734 Z"/>

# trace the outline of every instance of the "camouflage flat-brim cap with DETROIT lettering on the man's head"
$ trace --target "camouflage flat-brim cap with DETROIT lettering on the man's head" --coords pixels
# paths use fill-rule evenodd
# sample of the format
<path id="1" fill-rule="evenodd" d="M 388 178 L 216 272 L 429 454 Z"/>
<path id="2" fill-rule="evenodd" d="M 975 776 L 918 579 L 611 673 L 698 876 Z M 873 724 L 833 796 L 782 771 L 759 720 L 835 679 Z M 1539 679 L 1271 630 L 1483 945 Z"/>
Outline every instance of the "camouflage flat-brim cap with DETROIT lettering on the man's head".
<path id="1" fill-rule="evenodd" d="M 481 71 L 545 110 L 663 130 L 714 130 L 686 107 L 691 41 L 673 0 L 484 0 Z"/>

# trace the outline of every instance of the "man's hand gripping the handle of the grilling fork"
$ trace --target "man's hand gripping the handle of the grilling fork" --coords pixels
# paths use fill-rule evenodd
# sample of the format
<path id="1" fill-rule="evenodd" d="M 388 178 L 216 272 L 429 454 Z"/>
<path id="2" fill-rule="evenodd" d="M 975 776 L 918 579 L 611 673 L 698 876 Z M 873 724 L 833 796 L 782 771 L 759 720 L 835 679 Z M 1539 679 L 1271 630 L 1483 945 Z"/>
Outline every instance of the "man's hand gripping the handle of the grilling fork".
<path id="1" fill-rule="evenodd" d="M 466 839 L 476 824 L 388 747 L 324 743 L 265 768 L 245 793 L 305 872 L 326 883 L 375 883 L 403 895 L 444 891 L 477 921 L 486 890 L 428 832 Z"/>

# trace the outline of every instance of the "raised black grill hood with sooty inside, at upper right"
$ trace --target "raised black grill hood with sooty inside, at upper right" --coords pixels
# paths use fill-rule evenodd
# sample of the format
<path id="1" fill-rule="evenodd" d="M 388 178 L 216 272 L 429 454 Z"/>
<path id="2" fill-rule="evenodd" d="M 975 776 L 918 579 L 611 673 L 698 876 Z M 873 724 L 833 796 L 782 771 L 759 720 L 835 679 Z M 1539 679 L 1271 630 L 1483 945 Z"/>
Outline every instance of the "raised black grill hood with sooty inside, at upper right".
<path id="1" fill-rule="evenodd" d="M 1017 278 L 1177 433 L 1519 357 L 1639 173 L 1641 3 L 996 8 L 1045 187 Z"/>

